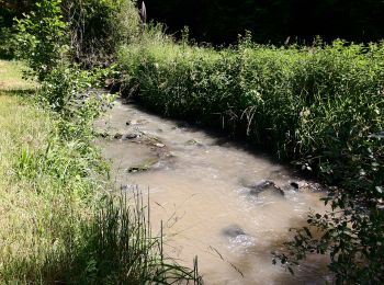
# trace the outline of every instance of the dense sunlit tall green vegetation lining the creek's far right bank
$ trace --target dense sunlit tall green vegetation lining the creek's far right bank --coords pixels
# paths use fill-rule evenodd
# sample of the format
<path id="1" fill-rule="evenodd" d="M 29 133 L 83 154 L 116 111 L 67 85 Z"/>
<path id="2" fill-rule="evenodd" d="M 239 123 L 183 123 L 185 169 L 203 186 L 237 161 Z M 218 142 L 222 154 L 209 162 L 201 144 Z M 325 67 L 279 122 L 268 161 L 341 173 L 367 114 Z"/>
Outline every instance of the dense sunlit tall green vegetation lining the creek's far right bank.
<path id="1" fill-rule="evenodd" d="M 126 90 L 157 112 L 223 127 L 315 173 L 349 166 L 351 151 L 384 127 L 382 44 L 245 39 L 217 52 L 162 38 L 122 48 L 118 64 Z"/>

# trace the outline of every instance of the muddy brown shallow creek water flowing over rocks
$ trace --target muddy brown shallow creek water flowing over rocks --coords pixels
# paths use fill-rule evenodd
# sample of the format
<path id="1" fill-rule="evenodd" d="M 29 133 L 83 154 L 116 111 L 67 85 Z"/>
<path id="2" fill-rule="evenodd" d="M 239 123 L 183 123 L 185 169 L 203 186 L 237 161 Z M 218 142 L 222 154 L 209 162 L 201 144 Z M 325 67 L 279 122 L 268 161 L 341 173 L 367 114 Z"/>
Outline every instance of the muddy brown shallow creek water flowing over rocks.
<path id="1" fill-rule="evenodd" d="M 150 221 L 154 232 L 163 223 L 166 253 L 188 266 L 197 255 L 205 284 L 326 283 L 323 258 L 307 259 L 294 276 L 271 262 L 271 251 L 309 208 L 324 210 L 321 192 L 290 185 L 300 180 L 293 172 L 245 146 L 121 101 L 97 127 L 112 135 L 100 145 L 118 185 L 149 193 Z M 284 195 L 252 193 L 263 180 Z"/>

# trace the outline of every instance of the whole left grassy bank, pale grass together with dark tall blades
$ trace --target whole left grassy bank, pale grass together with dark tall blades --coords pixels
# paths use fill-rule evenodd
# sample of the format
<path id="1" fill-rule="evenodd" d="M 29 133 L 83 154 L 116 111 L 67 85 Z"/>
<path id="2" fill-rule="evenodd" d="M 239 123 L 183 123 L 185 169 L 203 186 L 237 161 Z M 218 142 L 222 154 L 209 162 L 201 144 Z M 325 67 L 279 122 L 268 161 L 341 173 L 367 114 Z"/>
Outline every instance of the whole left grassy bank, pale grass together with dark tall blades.
<path id="1" fill-rule="evenodd" d="M 109 194 L 87 125 L 42 107 L 20 62 L 0 66 L 0 283 L 199 283 L 162 255 L 139 193 Z"/>

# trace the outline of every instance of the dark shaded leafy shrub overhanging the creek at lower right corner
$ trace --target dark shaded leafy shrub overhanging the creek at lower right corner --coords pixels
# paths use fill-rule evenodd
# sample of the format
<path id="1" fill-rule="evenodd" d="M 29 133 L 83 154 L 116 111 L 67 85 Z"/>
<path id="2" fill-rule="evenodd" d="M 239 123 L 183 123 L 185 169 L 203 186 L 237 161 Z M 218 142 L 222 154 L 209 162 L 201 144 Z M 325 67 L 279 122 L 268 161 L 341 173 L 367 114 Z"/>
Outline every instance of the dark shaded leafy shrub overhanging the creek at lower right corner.
<path id="1" fill-rule="evenodd" d="M 342 189 L 323 198 L 331 210 L 310 214 L 309 228 L 294 229 L 294 240 L 285 243 L 285 252 L 274 253 L 274 262 L 280 260 L 292 271 L 306 254 L 327 253 L 339 283 L 384 281 L 383 139 L 383 133 L 361 137 L 359 145 L 342 150 L 340 161 L 325 163 L 327 171 L 341 178 Z"/>

